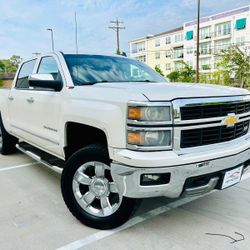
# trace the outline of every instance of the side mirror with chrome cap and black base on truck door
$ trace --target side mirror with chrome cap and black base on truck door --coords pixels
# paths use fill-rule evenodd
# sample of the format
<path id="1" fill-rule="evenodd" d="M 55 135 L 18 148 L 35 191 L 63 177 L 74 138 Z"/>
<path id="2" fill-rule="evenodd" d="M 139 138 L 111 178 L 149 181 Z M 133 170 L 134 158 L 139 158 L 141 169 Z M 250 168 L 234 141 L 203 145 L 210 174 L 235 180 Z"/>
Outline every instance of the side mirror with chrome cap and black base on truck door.
<path id="1" fill-rule="evenodd" d="M 29 76 L 29 86 L 61 91 L 63 82 L 61 80 L 54 80 L 52 74 L 32 74 Z"/>

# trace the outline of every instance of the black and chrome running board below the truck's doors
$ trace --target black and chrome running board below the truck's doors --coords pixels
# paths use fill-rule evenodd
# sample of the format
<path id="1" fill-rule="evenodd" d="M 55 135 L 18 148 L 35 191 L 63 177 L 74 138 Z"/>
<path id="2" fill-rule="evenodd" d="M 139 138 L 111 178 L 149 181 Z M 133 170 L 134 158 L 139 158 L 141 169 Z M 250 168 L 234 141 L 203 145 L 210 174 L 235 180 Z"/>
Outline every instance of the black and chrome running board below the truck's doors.
<path id="1" fill-rule="evenodd" d="M 43 152 L 40 149 L 37 149 L 30 144 L 27 144 L 25 142 L 21 142 L 19 144 L 16 144 L 16 148 L 23 152 L 24 154 L 30 156 L 37 162 L 45 165 L 49 169 L 53 170 L 54 172 L 58 174 L 62 174 L 62 170 L 64 167 L 64 161 L 56 158 L 55 156 L 52 156 L 48 153 Z M 57 164 L 53 164 L 57 163 Z"/>

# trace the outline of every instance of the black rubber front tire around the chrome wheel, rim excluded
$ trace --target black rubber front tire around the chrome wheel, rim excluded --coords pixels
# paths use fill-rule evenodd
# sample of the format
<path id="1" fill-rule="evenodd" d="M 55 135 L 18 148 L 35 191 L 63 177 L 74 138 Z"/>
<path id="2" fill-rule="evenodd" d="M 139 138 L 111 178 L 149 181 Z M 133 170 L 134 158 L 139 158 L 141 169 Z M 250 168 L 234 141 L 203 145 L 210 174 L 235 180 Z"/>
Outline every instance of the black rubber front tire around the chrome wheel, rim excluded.
<path id="1" fill-rule="evenodd" d="M 86 146 L 68 159 L 61 178 L 63 199 L 71 213 L 83 224 L 97 229 L 112 229 L 122 225 L 129 219 L 135 207 L 135 200 L 122 197 L 119 208 L 109 216 L 99 217 L 85 211 L 75 198 L 72 183 L 76 171 L 84 163 L 93 161 L 110 166 L 111 161 L 108 150 L 104 145 L 93 144 Z"/>

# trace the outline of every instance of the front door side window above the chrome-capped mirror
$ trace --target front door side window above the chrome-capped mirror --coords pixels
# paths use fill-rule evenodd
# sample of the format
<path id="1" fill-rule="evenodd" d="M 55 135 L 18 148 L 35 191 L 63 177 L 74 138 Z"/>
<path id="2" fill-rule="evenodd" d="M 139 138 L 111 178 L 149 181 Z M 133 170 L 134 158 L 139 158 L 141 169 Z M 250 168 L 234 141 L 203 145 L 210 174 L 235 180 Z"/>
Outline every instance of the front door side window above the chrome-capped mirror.
<path id="1" fill-rule="evenodd" d="M 51 74 L 54 80 L 61 80 L 61 74 L 59 72 L 57 62 L 51 56 L 42 58 L 37 73 L 38 74 Z"/>

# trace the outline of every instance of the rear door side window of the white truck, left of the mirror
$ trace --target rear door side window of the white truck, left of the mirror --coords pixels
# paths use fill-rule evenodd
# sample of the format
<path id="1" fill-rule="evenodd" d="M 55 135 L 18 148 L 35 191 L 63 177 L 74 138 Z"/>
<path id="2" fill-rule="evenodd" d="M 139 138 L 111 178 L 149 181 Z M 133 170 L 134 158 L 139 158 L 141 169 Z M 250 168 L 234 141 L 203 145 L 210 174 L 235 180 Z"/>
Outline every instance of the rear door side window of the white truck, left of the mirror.
<path id="1" fill-rule="evenodd" d="M 35 64 L 36 64 L 36 59 L 23 63 L 17 77 L 16 88 L 18 89 L 29 88 L 28 77 L 33 73 Z"/>

